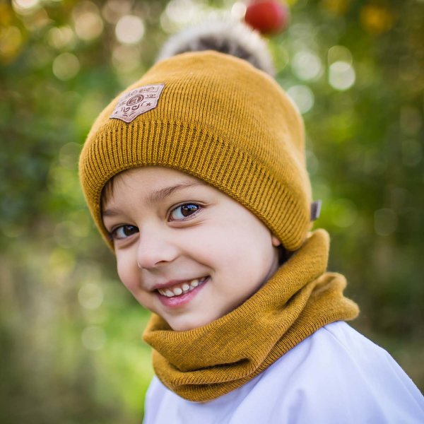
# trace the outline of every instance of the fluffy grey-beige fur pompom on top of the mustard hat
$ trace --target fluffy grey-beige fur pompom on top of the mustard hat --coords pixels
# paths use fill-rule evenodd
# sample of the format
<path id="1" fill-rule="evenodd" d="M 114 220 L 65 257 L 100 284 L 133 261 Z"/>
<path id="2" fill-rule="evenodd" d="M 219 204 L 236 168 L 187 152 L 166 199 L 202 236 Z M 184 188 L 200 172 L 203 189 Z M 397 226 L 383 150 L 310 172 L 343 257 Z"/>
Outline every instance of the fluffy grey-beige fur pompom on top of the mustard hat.
<path id="1" fill-rule="evenodd" d="M 158 60 L 184 52 L 216 50 L 249 61 L 273 76 L 273 61 L 257 31 L 235 20 L 208 20 L 172 35 L 163 45 Z"/>

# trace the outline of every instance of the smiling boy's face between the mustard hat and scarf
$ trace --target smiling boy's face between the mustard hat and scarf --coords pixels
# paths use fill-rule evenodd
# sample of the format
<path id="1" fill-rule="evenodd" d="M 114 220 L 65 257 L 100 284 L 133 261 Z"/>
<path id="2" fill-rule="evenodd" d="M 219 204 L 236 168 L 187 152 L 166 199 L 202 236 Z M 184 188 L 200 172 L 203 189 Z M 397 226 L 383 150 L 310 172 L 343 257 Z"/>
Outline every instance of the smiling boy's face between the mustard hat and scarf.
<path id="1" fill-rule="evenodd" d="M 177 170 L 141 167 L 115 177 L 103 222 L 122 283 L 177 331 L 234 310 L 278 268 L 280 243 L 259 218 Z"/>

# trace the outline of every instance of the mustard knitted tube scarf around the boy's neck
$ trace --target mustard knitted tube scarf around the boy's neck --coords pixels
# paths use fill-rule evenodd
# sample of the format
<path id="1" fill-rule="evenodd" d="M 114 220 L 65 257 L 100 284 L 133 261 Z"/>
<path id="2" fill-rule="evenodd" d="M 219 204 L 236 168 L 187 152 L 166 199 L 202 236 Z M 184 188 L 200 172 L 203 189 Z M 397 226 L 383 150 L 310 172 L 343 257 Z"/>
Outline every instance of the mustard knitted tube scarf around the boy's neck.
<path id="1" fill-rule="evenodd" d="M 224 317 L 173 331 L 153 314 L 144 340 L 165 386 L 189 401 L 211 401 L 259 375 L 322 326 L 358 316 L 346 279 L 326 272 L 329 235 L 316 230 L 251 298 Z"/>

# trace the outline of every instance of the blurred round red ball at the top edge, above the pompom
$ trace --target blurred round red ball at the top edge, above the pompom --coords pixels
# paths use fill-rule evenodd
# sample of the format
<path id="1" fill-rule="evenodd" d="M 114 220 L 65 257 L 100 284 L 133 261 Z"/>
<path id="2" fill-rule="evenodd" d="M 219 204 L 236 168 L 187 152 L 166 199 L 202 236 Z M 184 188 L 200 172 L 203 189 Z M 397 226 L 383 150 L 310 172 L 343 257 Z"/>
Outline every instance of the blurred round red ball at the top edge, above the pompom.
<path id="1" fill-rule="evenodd" d="M 262 34 L 281 33 L 288 28 L 290 11 L 277 0 L 253 0 L 246 8 L 245 22 Z"/>

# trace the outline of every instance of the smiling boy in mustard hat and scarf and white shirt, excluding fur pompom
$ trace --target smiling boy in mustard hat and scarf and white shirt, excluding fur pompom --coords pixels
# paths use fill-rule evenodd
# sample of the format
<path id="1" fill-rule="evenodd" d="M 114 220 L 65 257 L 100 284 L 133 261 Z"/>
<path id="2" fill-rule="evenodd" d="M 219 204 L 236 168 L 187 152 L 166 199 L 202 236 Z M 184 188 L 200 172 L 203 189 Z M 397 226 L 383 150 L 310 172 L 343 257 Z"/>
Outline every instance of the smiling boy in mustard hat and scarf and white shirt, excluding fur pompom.
<path id="1" fill-rule="evenodd" d="M 100 114 L 80 175 L 153 312 L 146 423 L 423 422 L 411 379 L 345 323 L 302 119 L 269 75 L 211 51 L 159 61 Z"/>

